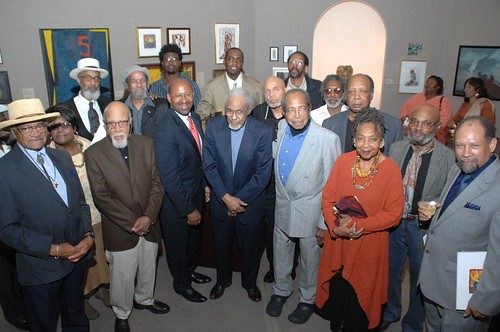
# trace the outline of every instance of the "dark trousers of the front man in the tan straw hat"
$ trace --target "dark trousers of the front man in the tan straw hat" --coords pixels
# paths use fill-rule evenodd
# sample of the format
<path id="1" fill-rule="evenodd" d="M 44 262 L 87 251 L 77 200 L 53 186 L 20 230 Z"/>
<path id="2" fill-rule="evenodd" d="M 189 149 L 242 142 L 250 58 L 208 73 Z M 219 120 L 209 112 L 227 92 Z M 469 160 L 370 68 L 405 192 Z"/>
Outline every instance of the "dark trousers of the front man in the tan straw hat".
<path id="1" fill-rule="evenodd" d="M 57 330 L 61 315 L 62 331 L 89 331 L 83 304 L 83 288 L 88 262 L 75 264 L 61 280 L 45 285 L 22 286 L 26 317 L 32 332 Z"/>

